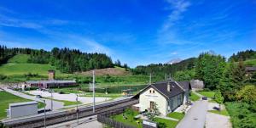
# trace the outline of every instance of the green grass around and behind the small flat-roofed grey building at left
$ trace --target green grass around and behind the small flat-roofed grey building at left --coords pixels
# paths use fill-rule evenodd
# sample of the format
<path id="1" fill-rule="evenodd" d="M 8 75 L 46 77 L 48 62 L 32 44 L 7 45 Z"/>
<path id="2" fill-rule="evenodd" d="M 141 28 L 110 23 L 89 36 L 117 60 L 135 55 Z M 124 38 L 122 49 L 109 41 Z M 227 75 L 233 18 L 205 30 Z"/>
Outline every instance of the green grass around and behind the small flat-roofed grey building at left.
<path id="1" fill-rule="evenodd" d="M 30 102 L 32 100 L 28 100 L 23 97 L 15 96 L 9 92 L 0 92 L 0 120 L 6 118 L 6 109 L 9 109 L 9 103 L 23 103 Z M 38 103 L 38 108 L 44 108 L 44 103 Z"/>

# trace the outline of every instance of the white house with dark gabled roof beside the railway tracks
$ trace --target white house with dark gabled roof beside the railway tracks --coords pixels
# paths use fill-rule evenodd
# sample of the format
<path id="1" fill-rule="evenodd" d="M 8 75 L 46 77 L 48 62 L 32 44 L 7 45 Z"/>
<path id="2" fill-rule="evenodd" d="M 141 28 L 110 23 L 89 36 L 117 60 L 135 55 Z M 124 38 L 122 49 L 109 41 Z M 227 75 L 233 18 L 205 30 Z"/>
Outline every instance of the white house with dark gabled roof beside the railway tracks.
<path id="1" fill-rule="evenodd" d="M 152 109 L 153 104 L 162 115 L 171 113 L 183 103 L 189 101 L 189 81 L 163 81 L 145 87 L 134 97 L 139 97 L 139 103 L 135 105 L 141 112 Z"/>

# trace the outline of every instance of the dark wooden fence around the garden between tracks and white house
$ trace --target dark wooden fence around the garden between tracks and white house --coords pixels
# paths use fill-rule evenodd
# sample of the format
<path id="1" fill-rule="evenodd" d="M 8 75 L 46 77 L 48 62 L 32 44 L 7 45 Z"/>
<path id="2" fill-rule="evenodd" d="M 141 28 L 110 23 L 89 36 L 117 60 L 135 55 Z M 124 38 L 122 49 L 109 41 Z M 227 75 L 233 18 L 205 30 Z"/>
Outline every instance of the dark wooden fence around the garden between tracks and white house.
<path id="1" fill-rule="evenodd" d="M 122 114 L 125 111 L 125 109 L 126 108 L 114 109 L 102 114 L 97 114 L 97 120 L 102 124 L 110 125 L 111 127 L 114 127 L 114 128 L 136 128 L 134 126 L 125 125 L 119 121 L 116 121 L 110 118 L 110 116 L 112 115 Z"/>

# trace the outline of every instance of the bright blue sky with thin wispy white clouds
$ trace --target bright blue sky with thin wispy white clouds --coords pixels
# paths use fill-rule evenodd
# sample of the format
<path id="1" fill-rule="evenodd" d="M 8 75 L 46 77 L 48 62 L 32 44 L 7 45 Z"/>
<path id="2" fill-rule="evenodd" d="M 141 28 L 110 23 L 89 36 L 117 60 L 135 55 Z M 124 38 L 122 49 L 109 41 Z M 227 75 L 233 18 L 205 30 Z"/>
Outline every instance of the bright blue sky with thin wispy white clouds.
<path id="1" fill-rule="evenodd" d="M 255 0 L 6 0 L 0 44 L 107 53 L 131 67 L 256 49 Z"/>

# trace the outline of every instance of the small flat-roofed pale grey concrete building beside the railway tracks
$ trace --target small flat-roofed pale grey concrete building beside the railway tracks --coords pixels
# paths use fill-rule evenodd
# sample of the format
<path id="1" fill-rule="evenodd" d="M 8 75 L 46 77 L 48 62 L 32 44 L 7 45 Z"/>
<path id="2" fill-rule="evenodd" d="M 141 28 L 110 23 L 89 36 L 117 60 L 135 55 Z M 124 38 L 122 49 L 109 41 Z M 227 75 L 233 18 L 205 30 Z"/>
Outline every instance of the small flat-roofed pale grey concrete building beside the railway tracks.
<path id="1" fill-rule="evenodd" d="M 16 118 L 32 114 L 38 114 L 38 102 L 10 103 L 9 117 Z"/>

